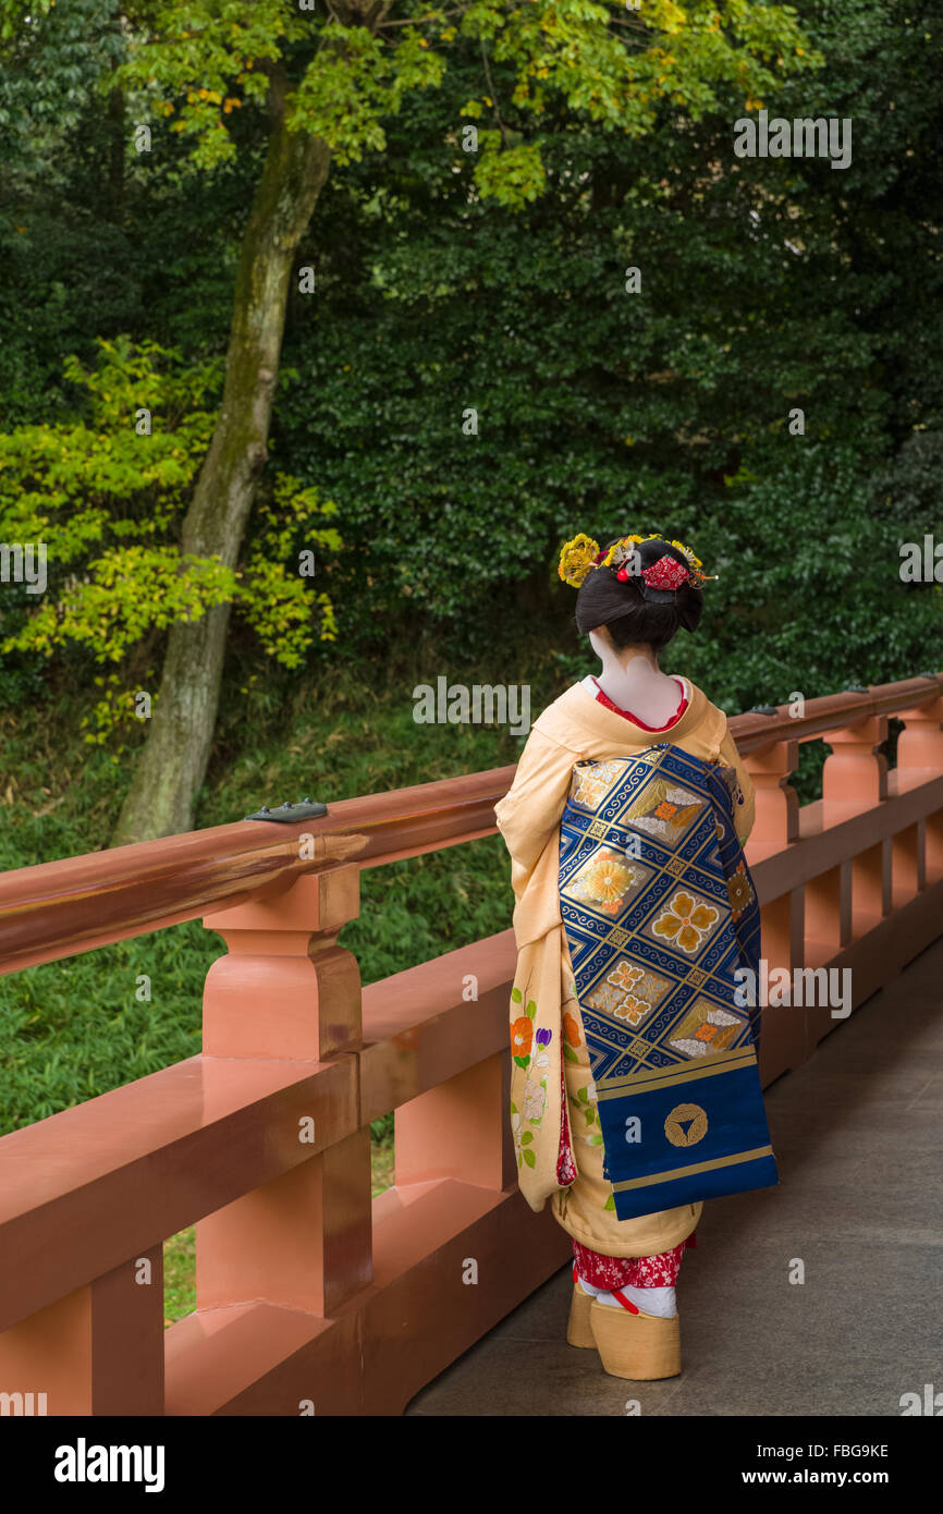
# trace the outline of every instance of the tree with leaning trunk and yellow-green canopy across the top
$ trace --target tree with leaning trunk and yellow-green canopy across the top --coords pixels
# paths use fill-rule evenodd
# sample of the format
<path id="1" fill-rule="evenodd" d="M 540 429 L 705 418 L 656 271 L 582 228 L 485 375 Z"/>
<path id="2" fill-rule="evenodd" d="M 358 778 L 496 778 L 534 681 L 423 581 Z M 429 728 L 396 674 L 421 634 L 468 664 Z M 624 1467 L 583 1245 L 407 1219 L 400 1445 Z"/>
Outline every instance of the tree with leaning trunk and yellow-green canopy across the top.
<path id="1" fill-rule="evenodd" d="M 661 103 L 693 118 L 734 86 L 749 103 L 783 71 L 805 67 L 795 14 L 748 0 L 649 0 L 645 15 L 592 0 L 471 0 L 428 9 L 416 0 L 350 0 L 327 15 L 288 0 L 163 0 L 120 6 L 127 58 L 101 79 L 103 97 L 135 126 L 192 148 L 197 170 L 260 153 L 233 291 L 226 386 L 182 524 L 186 559 L 236 563 L 268 456 L 285 309 L 295 251 L 331 164 L 381 153 L 384 126 L 416 91 L 442 85 L 453 62 L 480 61 L 474 94 L 457 101 L 481 123 L 472 200 L 527 204 L 546 185 L 543 141 L 560 109 L 595 132 L 651 132 Z M 41 45 L 50 0 L 5 0 L 0 35 L 17 62 Z M 498 104 L 493 79 L 506 88 Z M 145 144 L 147 145 L 147 144 Z M 154 719 L 127 795 L 117 842 L 192 822 L 218 704 L 229 604 L 174 621 Z M 159 790 L 159 802 L 154 793 Z"/>

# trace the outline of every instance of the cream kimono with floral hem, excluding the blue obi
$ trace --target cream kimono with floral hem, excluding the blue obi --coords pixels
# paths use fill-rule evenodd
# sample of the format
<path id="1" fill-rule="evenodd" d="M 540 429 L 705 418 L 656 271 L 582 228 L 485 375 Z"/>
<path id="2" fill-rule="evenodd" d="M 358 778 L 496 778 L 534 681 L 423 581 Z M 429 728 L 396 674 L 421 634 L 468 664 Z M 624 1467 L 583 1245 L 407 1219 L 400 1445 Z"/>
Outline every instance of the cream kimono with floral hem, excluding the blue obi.
<path id="1" fill-rule="evenodd" d="M 574 765 L 631 757 L 669 742 L 734 768 L 743 802 L 737 836 L 754 821 L 754 790 L 727 716 L 687 680 L 689 704 L 666 731 L 646 731 L 575 684 L 534 722 L 512 789 L 495 807 L 512 858 L 518 970 L 512 990 L 512 1128 L 521 1192 L 531 1210 L 549 1198 L 560 1225 L 607 1257 L 671 1251 L 695 1229 L 701 1204 L 618 1220 L 602 1175 L 602 1136 L 559 896 L 560 816 Z M 566 1046 L 566 1051 L 565 1051 Z M 571 1149 L 569 1155 L 562 1154 Z M 575 1181 L 574 1181 L 575 1169 Z"/>

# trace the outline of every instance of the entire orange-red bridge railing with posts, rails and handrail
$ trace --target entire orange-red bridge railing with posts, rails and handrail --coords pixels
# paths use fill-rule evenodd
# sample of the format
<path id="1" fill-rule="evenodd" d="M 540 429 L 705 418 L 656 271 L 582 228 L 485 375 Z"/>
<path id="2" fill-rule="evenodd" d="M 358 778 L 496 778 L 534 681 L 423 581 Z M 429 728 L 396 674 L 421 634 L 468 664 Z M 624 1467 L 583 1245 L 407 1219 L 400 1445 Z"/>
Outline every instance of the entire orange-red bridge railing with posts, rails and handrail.
<path id="1" fill-rule="evenodd" d="M 855 1005 L 940 934 L 941 692 L 911 678 L 731 721 L 763 954 L 849 967 Z M 789 778 L 816 739 L 822 798 L 799 807 Z M 398 1413 L 562 1266 L 568 1238 L 522 1202 L 510 1152 L 512 933 L 363 992 L 338 945 L 362 868 L 493 833 L 512 775 L 0 878 L 3 972 L 200 916 L 229 946 L 203 1055 L 0 1140 L 0 1393 L 45 1393 L 50 1414 Z M 763 1023 L 769 1083 L 839 1020 Z M 397 1181 L 371 1204 L 387 1110 Z M 163 1331 L 162 1243 L 194 1222 L 197 1310 Z"/>

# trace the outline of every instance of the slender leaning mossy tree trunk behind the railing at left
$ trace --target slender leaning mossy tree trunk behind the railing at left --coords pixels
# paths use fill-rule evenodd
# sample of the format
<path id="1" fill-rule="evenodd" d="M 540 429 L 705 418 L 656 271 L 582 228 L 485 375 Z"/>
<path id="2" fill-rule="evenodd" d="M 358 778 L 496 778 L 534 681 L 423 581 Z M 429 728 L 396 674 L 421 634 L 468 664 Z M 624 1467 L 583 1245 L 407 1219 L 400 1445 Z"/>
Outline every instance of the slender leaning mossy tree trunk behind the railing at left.
<path id="1" fill-rule="evenodd" d="M 213 439 L 182 533 L 185 554 L 235 566 L 266 442 L 279 374 L 294 254 L 327 179 L 330 148 L 277 120 L 250 215 L 233 300 L 226 388 Z M 154 701 L 147 743 L 118 818 L 112 846 L 188 831 L 206 775 L 230 606 L 177 622 Z"/>

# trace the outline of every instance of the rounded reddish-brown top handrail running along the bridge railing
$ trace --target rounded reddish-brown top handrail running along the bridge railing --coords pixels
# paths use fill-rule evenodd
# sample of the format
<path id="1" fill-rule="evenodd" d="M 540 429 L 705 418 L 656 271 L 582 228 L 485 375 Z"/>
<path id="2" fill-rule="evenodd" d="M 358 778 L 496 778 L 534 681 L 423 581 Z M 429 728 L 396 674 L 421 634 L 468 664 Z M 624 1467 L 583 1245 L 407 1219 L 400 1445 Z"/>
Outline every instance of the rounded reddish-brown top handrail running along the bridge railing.
<path id="1" fill-rule="evenodd" d="M 802 716 L 748 712 L 730 728 L 742 754 L 783 740 L 813 740 L 925 704 L 943 674 L 808 699 Z M 442 778 L 391 793 L 341 799 L 325 816 L 298 825 L 241 821 L 183 836 L 20 868 L 0 877 L 0 974 L 106 946 L 150 930 L 198 919 L 226 901 L 236 905 L 280 892 L 300 874 L 357 855 L 365 868 L 439 851 L 495 831 L 493 807 L 515 768 Z M 310 834 L 315 855 L 300 854 Z"/>

